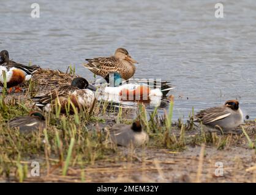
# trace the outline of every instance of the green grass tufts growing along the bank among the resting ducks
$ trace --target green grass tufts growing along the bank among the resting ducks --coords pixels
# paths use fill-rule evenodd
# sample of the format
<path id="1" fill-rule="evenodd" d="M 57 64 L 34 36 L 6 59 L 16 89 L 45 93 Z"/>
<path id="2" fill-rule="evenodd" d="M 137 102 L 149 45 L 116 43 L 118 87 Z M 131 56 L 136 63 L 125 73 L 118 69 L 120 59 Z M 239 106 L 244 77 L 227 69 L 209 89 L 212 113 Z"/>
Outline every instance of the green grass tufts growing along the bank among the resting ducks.
<path id="1" fill-rule="evenodd" d="M 69 68 L 71 73 L 75 70 Z M 30 83 L 26 96 L 34 96 L 37 83 Z M 58 103 L 58 99 L 56 99 Z M 77 110 L 69 102 L 66 115 L 61 114 L 59 104 L 55 104 L 53 112 L 44 113 L 46 128 L 32 133 L 20 133 L 17 129 L 9 129 L 7 121 L 16 116 L 26 116 L 34 109 L 29 99 L 14 99 L 8 94 L 0 94 L 0 178 L 15 179 L 24 182 L 29 174 L 29 162 L 40 161 L 42 176 L 47 176 L 53 169 L 59 176 L 69 175 L 69 170 L 78 167 L 85 169 L 100 160 L 123 159 L 118 149 L 109 143 L 108 134 L 102 129 L 110 128 L 110 123 L 132 124 L 139 119 L 143 129 L 149 133 L 148 148 L 168 149 L 181 152 L 189 146 L 206 146 L 224 149 L 241 140 L 243 137 L 209 133 L 204 126 L 194 126 L 194 108 L 189 120 L 184 123 L 173 122 L 174 103 L 171 101 L 164 116 L 159 108 L 148 113 L 145 105 L 139 104 L 137 116 L 127 119 L 125 109 L 116 111 L 104 101 L 96 102 L 92 110 Z M 73 114 L 70 113 L 73 110 Z M 243 129 L 244 130 L 244 129 Z M 194 133 L 193 136 L 190 135 Z M 253 148 L 255 137 L 244 131 L 249 147 Z M 113 158 L 114 157 L 114 158 Z M 80 172 L 81 182 L 86 179 L 86 172 Z"/>

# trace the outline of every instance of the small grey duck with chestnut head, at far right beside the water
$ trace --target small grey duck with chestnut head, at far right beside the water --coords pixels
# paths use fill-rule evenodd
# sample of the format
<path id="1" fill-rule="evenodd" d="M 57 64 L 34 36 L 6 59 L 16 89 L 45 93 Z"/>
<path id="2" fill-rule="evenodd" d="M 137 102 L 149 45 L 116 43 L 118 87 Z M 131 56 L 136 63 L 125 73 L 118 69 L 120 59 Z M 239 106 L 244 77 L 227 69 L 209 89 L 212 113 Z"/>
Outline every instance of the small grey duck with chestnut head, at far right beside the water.
<path id="1" fill-rule="evenodd" d="M 201 110 L 195 115 L 195 122 L 221 130 L 233 130 L 243 124 L 243 112 L 238 101 L 228 100 L 224 105 Z"/>

